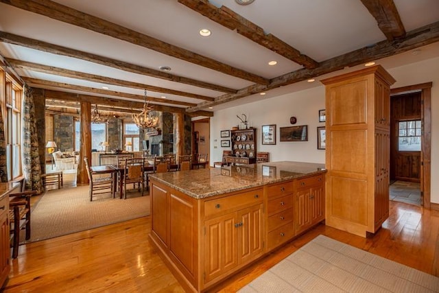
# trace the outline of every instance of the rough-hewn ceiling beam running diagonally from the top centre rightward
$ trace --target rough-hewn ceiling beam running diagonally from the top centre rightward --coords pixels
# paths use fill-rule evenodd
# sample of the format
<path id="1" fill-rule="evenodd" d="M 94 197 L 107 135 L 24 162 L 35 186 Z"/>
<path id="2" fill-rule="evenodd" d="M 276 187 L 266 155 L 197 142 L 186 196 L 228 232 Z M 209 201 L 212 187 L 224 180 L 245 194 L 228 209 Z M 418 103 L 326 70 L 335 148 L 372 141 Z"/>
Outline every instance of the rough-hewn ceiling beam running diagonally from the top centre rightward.
<path id="1" fill-rule="evenodd" d="M 178 0 L 179 3 L 191 8 L 208 19 L 219 23 L 230 30 L 237 30 L 238 34 L 245 36 L 259 45 L 270 49 L 285 58 L 292 60 L 307 69 L 318 67 L 318 62 L 309 58 L 300 51 L 294 49 L 283 40 L 277 38 L 273 34 L 265 34 L 263 28 L 255 25 L 248 19 L 237 14 L 230 8 L 222 6 L 217 8 L 215 5 L 209 3 L 207 0 Z"/>

